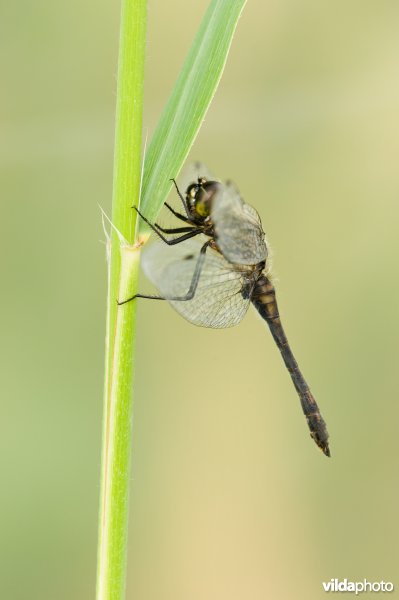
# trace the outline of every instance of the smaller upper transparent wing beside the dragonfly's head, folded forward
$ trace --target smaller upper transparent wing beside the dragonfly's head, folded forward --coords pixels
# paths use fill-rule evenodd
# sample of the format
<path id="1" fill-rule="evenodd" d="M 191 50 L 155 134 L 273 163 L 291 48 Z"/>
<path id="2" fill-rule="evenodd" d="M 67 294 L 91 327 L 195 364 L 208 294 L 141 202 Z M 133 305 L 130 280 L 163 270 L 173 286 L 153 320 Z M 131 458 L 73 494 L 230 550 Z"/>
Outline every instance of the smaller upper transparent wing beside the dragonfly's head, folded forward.
<path id="1" fill-rule="evenodd" d="M 267 257 L 265 234 L 256 210 L 246 204 L 231 183 L 223 185 L 212 204 L 215 239 L 233 264 L 256 265 Z"/>

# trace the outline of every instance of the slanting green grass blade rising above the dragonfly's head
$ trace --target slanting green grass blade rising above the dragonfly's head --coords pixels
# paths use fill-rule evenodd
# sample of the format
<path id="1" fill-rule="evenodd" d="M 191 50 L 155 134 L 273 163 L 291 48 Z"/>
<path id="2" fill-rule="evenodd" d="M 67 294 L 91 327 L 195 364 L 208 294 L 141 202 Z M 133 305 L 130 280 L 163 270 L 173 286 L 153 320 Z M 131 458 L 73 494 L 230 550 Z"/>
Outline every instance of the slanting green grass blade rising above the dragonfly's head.
<path id="1" fill-rule="evenodd" d="M 141 207 L 154 221 L 194 142 L 222 75 L 246 0 L 212 0 L 147 151 Z M 140 225 L 145 229 L 145 224 Z"/>

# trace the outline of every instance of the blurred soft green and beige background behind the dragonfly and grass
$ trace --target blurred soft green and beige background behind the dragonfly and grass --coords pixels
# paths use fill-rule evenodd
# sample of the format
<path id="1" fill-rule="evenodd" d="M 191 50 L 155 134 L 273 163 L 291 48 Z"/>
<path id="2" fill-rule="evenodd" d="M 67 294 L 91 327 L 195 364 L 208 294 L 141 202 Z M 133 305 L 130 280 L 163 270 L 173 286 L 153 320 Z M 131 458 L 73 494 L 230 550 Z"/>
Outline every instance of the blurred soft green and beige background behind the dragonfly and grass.
<path id="1" fill-rule="evenodd" d="M 149 3 L 149 135 L 206 6 Z M 261 214 L 332 458 L 255 311 L 212 331 L 142 302 L 128 598 L 399 590 L 398 18 L 395 0 L 248 1 L 191 158 Z M 94 597 L 118 25 L 118 3 L 2 10 L 7 600 Z"/>

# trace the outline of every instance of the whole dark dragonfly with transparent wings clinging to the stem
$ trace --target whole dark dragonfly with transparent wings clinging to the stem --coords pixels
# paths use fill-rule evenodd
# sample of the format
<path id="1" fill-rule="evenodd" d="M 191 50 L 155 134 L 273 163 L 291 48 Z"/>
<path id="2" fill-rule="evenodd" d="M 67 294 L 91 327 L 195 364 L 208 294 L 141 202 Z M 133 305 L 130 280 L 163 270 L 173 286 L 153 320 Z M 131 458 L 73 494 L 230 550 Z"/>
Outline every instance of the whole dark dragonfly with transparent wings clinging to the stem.
<path id="1" fill-rule="evenodd" d="M 190 171 L 196 176 L 186 175 L 184 195 L 171 180 L 183 212 L 165 203 L 181 226 L 150 223 L 136 208 L 160 239 L 143 253 L 144 272 L 160 295 L 135 294 L 118 304 L 136 298 L 167 300 L 187 321 L 212 328 L 237 325 L 252 304 L 281 352 L 311 437 L 330 456 L 326 423 L 281 324 L 260 217 L 231 182 L 222 183 L 198 163 Z"/>

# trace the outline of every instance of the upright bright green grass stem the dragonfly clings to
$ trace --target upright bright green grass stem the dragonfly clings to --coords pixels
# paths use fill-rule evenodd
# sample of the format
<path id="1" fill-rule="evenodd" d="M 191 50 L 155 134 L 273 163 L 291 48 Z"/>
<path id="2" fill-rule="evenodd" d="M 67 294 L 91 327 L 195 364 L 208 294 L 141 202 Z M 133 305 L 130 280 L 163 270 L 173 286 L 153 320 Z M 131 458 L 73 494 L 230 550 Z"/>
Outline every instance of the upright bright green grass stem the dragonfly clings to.
<path id="1" fill-rule="evenodd" d="M 122 0 L 105 357 L 97 600 L 122 600 L 126 554 L 132 428 L 135 293 L 139 249 L 134 245 L 141 177 L 146 0 Z"/>

